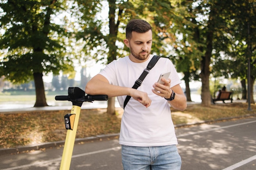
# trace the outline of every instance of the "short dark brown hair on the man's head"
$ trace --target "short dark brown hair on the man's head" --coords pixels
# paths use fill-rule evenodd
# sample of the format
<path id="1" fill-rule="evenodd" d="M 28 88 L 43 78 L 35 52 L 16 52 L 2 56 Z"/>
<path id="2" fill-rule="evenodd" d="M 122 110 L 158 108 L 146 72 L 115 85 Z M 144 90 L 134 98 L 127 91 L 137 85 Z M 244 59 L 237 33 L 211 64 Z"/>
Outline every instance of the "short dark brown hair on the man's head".
<path id="1" fill-rule="evenodd" d="M 148 22 L 141 19 L 130 20 L 126 26 L 126 39 L 132 38 L 132 31 L 146 33 L 149 30 L 152 30 L 152 27 Z"/>

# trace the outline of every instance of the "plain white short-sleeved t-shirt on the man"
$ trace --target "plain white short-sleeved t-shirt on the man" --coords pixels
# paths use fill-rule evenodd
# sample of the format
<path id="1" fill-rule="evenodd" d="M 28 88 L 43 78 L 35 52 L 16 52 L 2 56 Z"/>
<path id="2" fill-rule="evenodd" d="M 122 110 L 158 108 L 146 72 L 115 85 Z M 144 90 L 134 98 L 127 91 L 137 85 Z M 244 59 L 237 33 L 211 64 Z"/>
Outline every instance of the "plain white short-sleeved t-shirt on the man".
<path id="1" fill-rule="evenodd" d="M 132 87 L 141 73 L 147 67 L 153 55 L 143 63 L 135 63 L 128 56 L 114 60 L 100 72 L 108 79 L 110 84 L 124 87 Z M 177 144 L 173 121 L 171 119 L 170 105 L 163 97 L 155 95 L 151 89 L 157 82 L 161 73 L 171 71 L 169 78 L 171 86 L 180 84 L 180 78 L 173 63 L 166 58 L 160 58 L 155 66 L 137 88 L 148 93 L 152 100 L 146 108 L 131 97 L 126 105 L 121 119 L 119 143 L 127 146 L 167 146 Z M 126 96 L 118 96 L 117 100 L 124 108 Z"/>

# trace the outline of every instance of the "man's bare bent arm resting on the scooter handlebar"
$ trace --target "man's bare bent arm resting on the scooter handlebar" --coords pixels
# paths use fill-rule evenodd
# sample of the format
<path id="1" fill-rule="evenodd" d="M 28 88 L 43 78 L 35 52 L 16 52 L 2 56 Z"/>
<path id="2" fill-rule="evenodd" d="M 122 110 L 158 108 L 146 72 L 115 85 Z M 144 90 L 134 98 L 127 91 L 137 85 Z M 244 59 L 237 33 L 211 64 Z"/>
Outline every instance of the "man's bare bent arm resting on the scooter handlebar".
<path id="1" fill-rule="evenodd" d="M 85 93 L 90 95 L 108 95 L 108 97 L 130 95 L 146 107 L 151 104 L 151 99 L 148 97 L 147 93 L 138 91 L 134 88 L 109 84 L 108 79 L 100 74 L 92 77 L 92 79 L 87 83 Z"/>

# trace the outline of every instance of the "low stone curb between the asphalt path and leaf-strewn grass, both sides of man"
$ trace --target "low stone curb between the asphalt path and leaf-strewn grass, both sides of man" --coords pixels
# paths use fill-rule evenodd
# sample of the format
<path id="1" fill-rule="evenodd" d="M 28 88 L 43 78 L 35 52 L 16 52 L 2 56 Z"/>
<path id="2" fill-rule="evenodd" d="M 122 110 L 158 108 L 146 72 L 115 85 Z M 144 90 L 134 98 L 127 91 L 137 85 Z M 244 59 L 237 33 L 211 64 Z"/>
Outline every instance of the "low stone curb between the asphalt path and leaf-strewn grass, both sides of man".
<path id="1" fill-rule="evenodd" d="M 247 117 L 256 117 L 256 114 L 248 114 L 248 115 L 243 115 L 243 116 L 239 116 L 239 117 L 226 117 L 226 118 L 222 118 L 222 119 L 199 121 L 199 122 L 194 122 L 191 124 L 178 124 L 178 125 L 174 125 L 174 127 L 182 128 L 182 127 L 189 127 L 189 126 L 200 125 L 200 124 L 216 123 L 219 121 L 230 121 L 232 119 L 242 119 L 242 118 L 247 118 Z M 77 139 L 75 139 L 75 144 L 80 144 L 80 143 L 84 143 L 84 142 L 117 139 L 118 137 L 119 137 L 119 133 L 108 134 L 108 135 L 97 135 L 97 136 L 85 137 L 85 138 L 77 138 Z M 28 145 L 28 146 L 18 146 L 16 148 L 2 148 L 2 149 L 0 149 L 0 155 L 19 154 L 19 153 L 23 153 L 23 152 L 29 152 L 31 150 L 43 150 L 45 148 L 63 147 L 64 144 L 65 144 L 65 141 L 55 141 L 55 142 L 46 142 L 46 143 L 42 143 L 42 144 L 35 144 L 35 145 Z"/>

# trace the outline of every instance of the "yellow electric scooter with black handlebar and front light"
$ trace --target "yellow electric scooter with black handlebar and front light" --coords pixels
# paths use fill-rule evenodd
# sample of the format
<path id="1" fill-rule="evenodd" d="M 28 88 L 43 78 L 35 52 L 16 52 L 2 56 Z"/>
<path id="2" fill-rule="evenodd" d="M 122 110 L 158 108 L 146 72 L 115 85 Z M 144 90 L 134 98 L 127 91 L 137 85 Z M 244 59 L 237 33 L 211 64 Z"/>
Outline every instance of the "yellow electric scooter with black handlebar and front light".
<path id="1" fill-rule="evenodd" d="M 55 100 L 70 101 L 72 102 L 72 110 L 70 114 L 64 116 L 65 128 L 67 129 L 67 135 L 65 139 L 63 155 L 61 159 L 60 170 L 69 170 L 72 158 L 72 152 L 74 149 L 74 143 L 76 138 L 76 130 L 78 126 L 79 116 L 81 112 L 81 106 L 83 102 L 92 102 L 94 100 L 106 101 L 107 95 L 85 95 L 79 87 L 69 87 L 68 95 L 55 96 Z"/>

